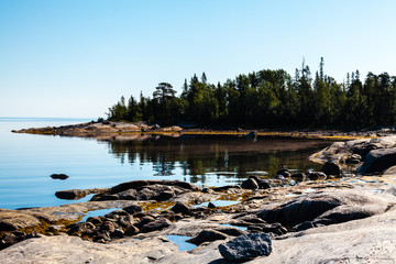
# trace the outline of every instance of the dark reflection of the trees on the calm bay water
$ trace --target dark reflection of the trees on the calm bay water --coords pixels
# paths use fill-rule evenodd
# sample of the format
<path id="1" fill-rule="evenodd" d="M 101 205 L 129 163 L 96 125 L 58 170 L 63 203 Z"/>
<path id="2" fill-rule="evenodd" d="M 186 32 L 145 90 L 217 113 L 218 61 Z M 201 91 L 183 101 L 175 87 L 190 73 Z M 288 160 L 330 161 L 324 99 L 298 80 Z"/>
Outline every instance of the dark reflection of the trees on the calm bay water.
<path id="1" fill-rule="evenodd" d="M 182 169 L 191 183 L 208 183 L 209 177 L 238 183 L 249 175 L 273 177 L 283 167 L 318 169 L 308 160 L 330 142 L 258 138 L 256 142 L 230 135 L 134 135 L 134 139 L 107 139 L 110 153 L 121 163 L 152 164 L 155 176 L 174 175 Z"/>

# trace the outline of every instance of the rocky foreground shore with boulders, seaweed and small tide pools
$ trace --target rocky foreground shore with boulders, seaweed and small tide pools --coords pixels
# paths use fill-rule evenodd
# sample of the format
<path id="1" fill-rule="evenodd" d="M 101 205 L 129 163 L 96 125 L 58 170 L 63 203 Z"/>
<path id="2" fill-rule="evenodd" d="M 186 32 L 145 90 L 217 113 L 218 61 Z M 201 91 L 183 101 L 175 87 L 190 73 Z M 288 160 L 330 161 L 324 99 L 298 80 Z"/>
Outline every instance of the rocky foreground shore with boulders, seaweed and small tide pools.
<path id="1" fill-rule="evenodd" d="M 310 158 L 321 172 L 204 189 L 133 180 L 55 194 L 88 202 L 1 209 L 1 263 L 395 263 L 396 136 Z"/>

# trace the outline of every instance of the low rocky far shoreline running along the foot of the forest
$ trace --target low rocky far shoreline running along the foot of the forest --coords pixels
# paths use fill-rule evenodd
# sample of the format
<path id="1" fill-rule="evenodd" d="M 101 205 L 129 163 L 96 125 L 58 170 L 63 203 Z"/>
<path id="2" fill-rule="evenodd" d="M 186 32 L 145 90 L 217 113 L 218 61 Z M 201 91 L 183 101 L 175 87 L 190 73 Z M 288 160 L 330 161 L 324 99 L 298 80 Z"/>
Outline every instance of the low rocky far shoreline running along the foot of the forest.
<path id="1" fill-rule="evenodd" d="M 322 140 L 354 140 L 364 138 L 387 136 L 395 134 L 396 131 L 392 129 L 376 129 L 365 131 L 336 131 L 336 130 L 253 130 L 241 128 L 190 128 L 190 127 L 160 127 L 158 124 L 147 124 L 145 122 L 112 122 L 112 121 L 91 121 L 87 123 L 62 125 L 62 127 L 46 127 L 46 128 L 30 128 L 22 130 L 13 130 L 14 133 L 30 133 L 30 134 L 47 134 L 47 135 L 64 135 L 64 136 L 80 136 L 95 138 L 99 140 L 129 140 L 142 138 L 147 134 L 167 134 L 170 136 L 179 136 L 182 134 L 232 134 L 246 136 L 276 136 L 276 138 L 295 138 L 295 139 L 322 139 Z M 251 135 L 250 133 L 253 133 Z"/>

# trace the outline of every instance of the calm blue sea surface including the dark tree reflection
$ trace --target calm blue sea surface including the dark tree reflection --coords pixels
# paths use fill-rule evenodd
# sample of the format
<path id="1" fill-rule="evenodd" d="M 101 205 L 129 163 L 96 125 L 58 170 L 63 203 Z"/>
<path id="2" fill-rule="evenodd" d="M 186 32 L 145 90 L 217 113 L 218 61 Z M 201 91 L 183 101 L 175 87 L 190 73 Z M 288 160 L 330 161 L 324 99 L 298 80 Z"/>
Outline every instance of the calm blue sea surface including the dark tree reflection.
<path id="1" fill-rule="evenodd" d="M 87 119 L 0 118 L 0 208 L 68 202 L 55 191 L 111 187 L 134 179 L 179 179 L 198 186 L 239 184 L 249 175 L 272 177 L 280 167 L 317 169 L 308 161 L 324 141 L 256 142 L 238 136 L 151 136 L 97 141 L 11 133 L 13 129 L 63 125 Z M 66 180 L 52 174 L 67 174 Z M 86 197 L 84 200 L 88 200 Z"/>

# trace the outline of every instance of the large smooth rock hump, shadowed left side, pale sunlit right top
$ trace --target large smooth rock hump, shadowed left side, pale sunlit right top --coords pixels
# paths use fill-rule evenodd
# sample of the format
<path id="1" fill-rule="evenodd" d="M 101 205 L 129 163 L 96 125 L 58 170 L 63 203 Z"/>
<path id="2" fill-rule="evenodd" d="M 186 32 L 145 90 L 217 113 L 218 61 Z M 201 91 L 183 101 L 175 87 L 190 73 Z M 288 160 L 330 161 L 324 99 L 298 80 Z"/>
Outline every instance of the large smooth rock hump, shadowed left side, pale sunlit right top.
<path id="1" fill-rule="evenodd" d="M 312 193 L 257 213 L 263 220 L 298 230 L 332 224 L 383 213 L 395 202 L 370 191 L 336 190 Z"/>

